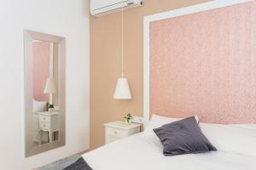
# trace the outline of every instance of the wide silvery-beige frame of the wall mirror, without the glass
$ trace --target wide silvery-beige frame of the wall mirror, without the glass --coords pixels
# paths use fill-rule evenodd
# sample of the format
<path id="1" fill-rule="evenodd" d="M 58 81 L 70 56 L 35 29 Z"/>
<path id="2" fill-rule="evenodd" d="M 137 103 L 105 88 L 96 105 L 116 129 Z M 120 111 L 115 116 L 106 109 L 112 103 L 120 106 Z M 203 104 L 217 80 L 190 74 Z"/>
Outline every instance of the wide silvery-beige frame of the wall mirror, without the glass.
<path id="1" fill-rule="evenodd" d="M 58 44 L 59 55 L 58 55 L 58 69 L 59 69 L 59 87 L 58 87 L 58 99 L 60 107 L 60 133 L 59 139 L 52 143 L 41 144 L 38 146 L 33 146 L 32 144 L 32 42 L 33 40 L 40 40 L 44 42 L 55 42 Z M 49 34 L 44 34 L 36 31 L 24 31 L 24 90 L 25 90 L 25 156 L 33 156 L 38 153 L 52 150 L 57 147 L 65 145 L 65 38 L 53 36 Z"/>

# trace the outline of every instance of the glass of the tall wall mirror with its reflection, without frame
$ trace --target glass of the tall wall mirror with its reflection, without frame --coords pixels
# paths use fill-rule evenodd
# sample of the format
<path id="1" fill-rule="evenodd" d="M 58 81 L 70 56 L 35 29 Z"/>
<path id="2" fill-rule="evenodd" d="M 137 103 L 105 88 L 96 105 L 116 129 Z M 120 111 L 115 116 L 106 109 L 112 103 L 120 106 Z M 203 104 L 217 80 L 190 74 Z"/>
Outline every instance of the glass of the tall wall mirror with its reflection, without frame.
<path id="1" fill-rule="evenodd" d="M 33 145 L 58 138 L 58 44 L 33 40 Z"/>

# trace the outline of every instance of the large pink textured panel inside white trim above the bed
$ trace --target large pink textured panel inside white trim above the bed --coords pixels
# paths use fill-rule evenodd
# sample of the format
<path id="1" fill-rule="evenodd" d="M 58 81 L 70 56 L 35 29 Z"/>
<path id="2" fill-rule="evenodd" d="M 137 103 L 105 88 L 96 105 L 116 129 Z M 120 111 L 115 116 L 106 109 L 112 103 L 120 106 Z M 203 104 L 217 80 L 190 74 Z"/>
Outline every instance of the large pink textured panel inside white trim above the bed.
<path id="1" fill-rule="evenodd" d="M 150 113 L 256 122 L 256 2 L 150 25 Z"/>

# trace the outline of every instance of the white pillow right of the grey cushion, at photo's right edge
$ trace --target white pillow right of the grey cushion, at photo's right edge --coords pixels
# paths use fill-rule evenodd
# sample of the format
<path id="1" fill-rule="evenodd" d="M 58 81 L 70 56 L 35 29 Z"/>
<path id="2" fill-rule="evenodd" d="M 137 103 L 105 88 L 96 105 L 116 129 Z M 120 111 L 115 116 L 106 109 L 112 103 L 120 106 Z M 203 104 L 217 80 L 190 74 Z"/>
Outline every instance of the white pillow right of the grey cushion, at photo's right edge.
<path id="1" fill-rule="evenodd" d="M 256 156 L 256 126 L 199 123 L 199 127 L 217 150 Z"/>

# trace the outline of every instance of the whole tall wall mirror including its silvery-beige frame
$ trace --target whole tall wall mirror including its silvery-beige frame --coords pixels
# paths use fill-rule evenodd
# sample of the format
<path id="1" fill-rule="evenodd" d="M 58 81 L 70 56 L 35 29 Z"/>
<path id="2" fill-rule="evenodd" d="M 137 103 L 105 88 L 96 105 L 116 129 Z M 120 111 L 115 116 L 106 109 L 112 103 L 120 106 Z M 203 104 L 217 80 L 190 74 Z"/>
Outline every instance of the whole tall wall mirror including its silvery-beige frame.
<path id="1" fill-rule="evenodd" d="M 26 156 L 65 144 L 65 38 L 24 31 Z"/>

